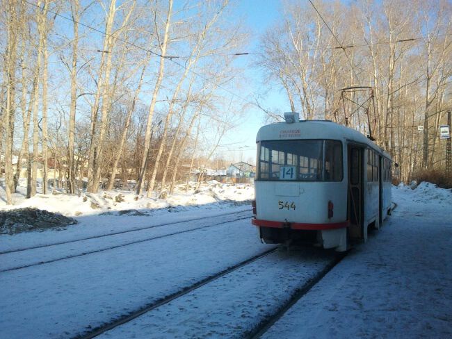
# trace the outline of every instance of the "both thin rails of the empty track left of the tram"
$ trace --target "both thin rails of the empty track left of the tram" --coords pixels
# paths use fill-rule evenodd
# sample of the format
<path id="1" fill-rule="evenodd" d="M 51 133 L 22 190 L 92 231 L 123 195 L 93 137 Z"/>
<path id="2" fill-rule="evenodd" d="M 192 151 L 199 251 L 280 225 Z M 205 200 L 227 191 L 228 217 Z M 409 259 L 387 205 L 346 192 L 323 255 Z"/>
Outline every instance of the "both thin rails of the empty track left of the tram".
<path id="1" fill-rule="evenodd" d="M 242 211 L 242 212 L 239 212 L 239 213 L 248 213 L 248 211 L 244 211 L 244 212 Z M 238 214 L 238 213 L 228 213 L 227 215 L 232 215 L 232 214 Z M 216 216 L 216 217 L 221 217 L 221 216 L 224 216 L 224 215 L 220 215 L 220 216 Z M 4 273 L 4 272 L 10 272 L 10 271 L 15 271 L 15 270 L 22 270 L 22 269 L 27 268 L 27 267 L 44 265 L 44 264 L 47 264 L 47 263 L 55 263 L 57 261 L 63 261 L 65 259 L 86 256 L 88 254 L 95 254 L 95 253 L 99 253 L 99 252 L 102 252 L 102 251 L 108 251 L 110 249 L 117 249 L 117 248 L 120 248 L 120 247 L 126 247 L 126 246 L 129 246 L 129 245 L 135 245 L 135 244 L 139 244 L 141 242 L 147 242 L 147 241 L 151 241 L 151 240 L 167 238 L 167 237 L 170 237 L 172 235 L 179 235 L 181 233 L 188 233 L 188 232 L 191 232 L 191 231 L 198 231 L 198 230 L 201 230 L 201 229 L 208 229 L 210 227 L 220 226 L 220 225 L 223 225 L 223 224 L 228 224 L 230 222 L 236 222 L 236 221 L 240 221 L 240 220 L 250 219 L 251 217 L 252 217 L 251 215 L 247 215 L 245 217 L 238 217 L 238 218 L 233 219 L 233 220 L 227 220 L 227 221 L 223 221 L 223 222 L 218 222 L 216 224 L 204 225 L 204 226 L 195 227 L 195 228 L 191 228 L 191 229 L 185 229 L 183 231 L 177 231 L 177 232 L 167 233 L 167 234 L 163 234 L 163 235 L 156 235 L 156 236 L 152 236 L 152 237 L 147 237 L 147 238 L 144 238 L 144 239 L 142 238 L 142 239 L 139 239 L 139 240 L 124 242 L 124 243 L 119 244 L 119 245 L 107 246 L 107 247 L 100 248 L 100 249 L 99 248 L 98 249 L 93 249 L 92 251 L 82 251 L 79 254 L 73 254 L 73 255 L 68 255 L 68 256 L 60 256 L 58 258 L 54 258 L 54 259 L 47 260 L 47 261 L 38 261 L 38 262 L 30 263 L 30 264 L 27 264 L 27 265 L 19 265 L 19 266 L 16 266 L 16 267 L 9 267 L 7 269 L 0 270 L 0 274 Z M 207 217 L 207 218 L 204 217 L 204 218 L 200 218 L 200 219 L 197 219 L 197 220 L 203 220 L 203 219 L 209 219 L 209 217 Z M 191 222 L 191 221 L 193 221 L 193 220 L 189 220 L 188 222 Z M 185 223 L 185 222 L 178 222 L 178 223 L 171 223 L 171 224 L 179 224 L 179 223 Z M 169 224 L 160 225 L 160 226 L 168 226 L 168 225 Z M 147 227 L 146 229 L 152 229 L 154 227 L 156 227 L 156 226 L 150 226 L 150 227 Z M 144 228 L 140 229 L 140 230 L 134 230 L 134 231 L 143 231 L 143 230 L 144 230 Z M 121 233 L 126 233 L 126 232 L 121 232 Z M 104 237 L 111 236 L 111 235 L 117 235 L 117 234 L 118 233 L 104 235 Z M 103 238 L 103 237 L 95 237 L 95 238 L 89 238 L 89 239 L 84 239 L 84 240 L 92 240 L 92 239 L 98 239 L 98 238 Z M 77 241 L 81 242 L 83 240 L 77 240 Z M 63 242 L 63 243 L 59 243 L 59 244 L 55 244 L 55 245 L 51 245 L 51 246 L 67 245 L 67 244 L 72 243 L 72 242 L 75 242 L 75 241 Z M 49 247 L 49 246 L 46 246 L 46 247 Z M 33 249 L 40 249 L 40 248 L 42 248 L 42 247 L 35 247 Z M 33 250 L 33 249 L 30 249 L 30 250 Z M 10 252 L 8 254 L 13 254 L 13 253 L 14 252 Z"/>

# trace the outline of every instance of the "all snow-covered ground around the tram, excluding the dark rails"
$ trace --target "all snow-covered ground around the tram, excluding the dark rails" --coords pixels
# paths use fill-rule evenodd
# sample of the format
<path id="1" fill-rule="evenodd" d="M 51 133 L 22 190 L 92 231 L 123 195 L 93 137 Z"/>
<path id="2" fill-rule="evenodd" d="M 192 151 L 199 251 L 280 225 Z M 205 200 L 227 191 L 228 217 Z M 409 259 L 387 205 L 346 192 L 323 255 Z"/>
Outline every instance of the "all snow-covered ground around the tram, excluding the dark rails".
<path id="1" fill-rule="evenodd" d="M 119 193 L 126 201 L 115 202 Z M 394 187 L 392 193 L 398 206 L 385 226 L 353 249 L 264 338 L 452 337 L 452 191 L 421 183 L 414 190 Z M 104 195 L 17 201 L 40 208 L 52 201 L 50 210 L 75 216 L 79 224 L 0 235 L 0 252 L 161 226 L 1 254 L 3 269 L 56 261 L 0 272 L 0 338 L 71 338 L 271 248 L 259 242 L 249 219 L 239 220 L 246 213 L 251 217 L 249 206 L 233 202 L 252 199 L 248 185 L 211 183 L 195 195 L 178 192 L 166 200 L 135 200 L 136 195 L 116 191 L 106 193 L 113 199 Z M 101 207 L 93 209 L 92 201 Z M 119 215 L 121 209 L 145 215 Z M 171 235 L 177 231 L 184 233 Z M 124 245 L 134 240 L 139 242 Z M 101 250 L 83 254 L 96 249 Z M 61 259 L 70 254 L 76 257 Z M 331 260 L 326 251 L 275 252 L 104 336 L 241 337 Z"/>

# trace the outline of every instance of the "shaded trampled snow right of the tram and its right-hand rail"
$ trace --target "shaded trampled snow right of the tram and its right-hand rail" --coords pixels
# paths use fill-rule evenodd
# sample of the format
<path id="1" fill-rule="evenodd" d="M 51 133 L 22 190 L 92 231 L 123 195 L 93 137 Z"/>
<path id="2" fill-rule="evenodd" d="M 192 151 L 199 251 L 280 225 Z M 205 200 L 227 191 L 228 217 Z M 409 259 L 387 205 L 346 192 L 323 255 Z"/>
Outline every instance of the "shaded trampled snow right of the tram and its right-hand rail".
<path id="1" fill-rule="evenodd" d="M 452 190 L 392 190 L 398 204 L 263 338 L 451 338 Z"/>

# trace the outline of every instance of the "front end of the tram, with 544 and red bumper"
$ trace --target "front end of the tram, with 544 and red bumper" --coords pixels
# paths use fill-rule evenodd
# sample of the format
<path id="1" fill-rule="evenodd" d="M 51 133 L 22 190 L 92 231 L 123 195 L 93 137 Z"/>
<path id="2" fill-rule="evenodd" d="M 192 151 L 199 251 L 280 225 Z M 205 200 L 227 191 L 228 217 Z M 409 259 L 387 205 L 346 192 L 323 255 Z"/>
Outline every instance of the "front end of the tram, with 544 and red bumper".
<path id="1" fill-rule="evenodd" d="M 257 134 L 252 224 L 266 243 L 310 242 L 345 251 L 344 136 L 334 130 L 337 124 L 299 122 L 292 114 Z"/>

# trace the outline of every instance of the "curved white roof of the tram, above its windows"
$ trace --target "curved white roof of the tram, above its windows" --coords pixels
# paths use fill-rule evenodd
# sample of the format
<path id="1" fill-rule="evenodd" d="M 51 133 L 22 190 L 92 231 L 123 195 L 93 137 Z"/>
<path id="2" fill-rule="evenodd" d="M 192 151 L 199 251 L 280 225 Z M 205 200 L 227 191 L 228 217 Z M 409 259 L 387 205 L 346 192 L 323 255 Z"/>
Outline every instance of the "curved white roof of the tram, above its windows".
<path id="1" fill-rule="evenodd" d="M 300 139 L 345 139 L 359 142 L 360 144 L 366 144 L 390 158 L 389 154 L 369 140 L 369 138 L 366 138 L 362 133 L 329 120 L 301 120 L 300 122 L 294 122 L 293 124 L 278 122 L 276 124 L 262 126 L 257 132 L 256 142 L 262 140 Z"/>

